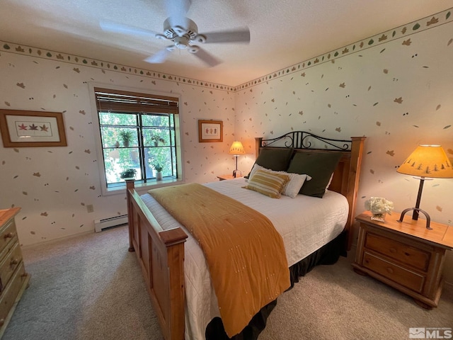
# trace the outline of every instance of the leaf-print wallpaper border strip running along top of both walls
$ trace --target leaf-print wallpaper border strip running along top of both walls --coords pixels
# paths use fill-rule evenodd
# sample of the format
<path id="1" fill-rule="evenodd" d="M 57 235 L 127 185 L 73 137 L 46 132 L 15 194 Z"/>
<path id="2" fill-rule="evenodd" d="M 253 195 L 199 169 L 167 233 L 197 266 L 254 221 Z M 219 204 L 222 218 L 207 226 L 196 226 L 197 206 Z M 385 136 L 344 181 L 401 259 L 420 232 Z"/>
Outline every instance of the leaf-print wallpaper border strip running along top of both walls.
<path id="1" fill-rule="evenodd" d="M 283 77 L 287 74 L 293 74 L 295 72 L 299 72 L 303 69 L 309 69 L 310 67 L 314 67 L 317 64 L 323 64 L 324 62 L 333 62 L 340 57 L 344 57 L 345 55 L 350 55 L 352 53 L 356 53 L 362 50 L 366 50 L 370 47 L 378 46 L 384 44 L 384 42 L 389 42 L 392 40 L 397 40 L 405 37 L 410 37 L 411 35 L 421 32 L 423 30 L 428 30 L 430 28 L 435 28 L 440 25 L 444 25 L 449 23 L 453 20 L 452 17 L 453 8 L 446 9 L 445 11 L 441 11 L 439 13 L 432 14 L 425 18 L 421 18 L 417 21 L 413 21 L 411 23 L 407 23 L 405 25 L 399 26 L 397 28 L 393 28 L 391 30 L 387 30 L 384 33 L 378 33 L 377 35 L 372 35 L 372 37 L 365 38 L 363 40 L 359 40 L 357 42 L 353 42 L 350 45 L 346 45 L 343 47 L 339 47 L 336 50 L 332 50 L 330 52 L 326 52 L 323 55 L 319 55 L 313 57 L 309 60 L 305 60 L 303 62 L 299 62 L 298 64 L 294 64 L 289 67 L 285 67 L 284 69 L 279 69 L 275 72 L 270 74 L 266 74 L 263 77 L 253 79 L 251 81 L 247 81 L 246 83 L 239 84 L 237 86 L 227 86 L 224 84 L 216 84 L 209 81 L 201 81 L 197 79 L 191 79 L 187 77 L 180 77 L 174 74 L 166 74 L 163 72 L 155 72 L 149 69 L 140 69 L 137 67 L 130 67 L 122 64 L 116 64 L 114 62 L 105 62 L 103 60 L 94 60 L 88 57 L 81 57 L 78 55 L 69 55 L 62 52 L 55 52 L 52 50 L 46 50 L 39 47 L 31 47 L 16 44 L 14 42 L 6 42 L 4 40 L 0 40 L 0 52 L 9 52 L 15 53 L 18 55 L 28 55 L 30 57 L 38 57 L 47 60 L 55 60 L 59 62 L 67 62 L 69 64 L 75 65 L 83 65 L 88 67 L 95 67 L 98 69 L 109 70 L 113 72 L 120 72 L 125 74 L 133 74 L 142 77 L 149 77 L 154 79 L 161 79 L 166 81 L 174 81 L 174 82 L 182 82 L 184 84 L 191 84 L 195 86 L 205 87 L 207 89 L 217 89 L 222 91 L 240 91 L 243 89 L 247 89 L 248 87 L 258 85 L 265 81 L 270 81 L 272 79 L 277 79 Z M 453 42 L 453 40 L 450 40 Z M 403 40 L 403 45 L 411 45 L 411 38 Z M 77 67 L 74 67 L 74 72 L 80 72 Z"/>

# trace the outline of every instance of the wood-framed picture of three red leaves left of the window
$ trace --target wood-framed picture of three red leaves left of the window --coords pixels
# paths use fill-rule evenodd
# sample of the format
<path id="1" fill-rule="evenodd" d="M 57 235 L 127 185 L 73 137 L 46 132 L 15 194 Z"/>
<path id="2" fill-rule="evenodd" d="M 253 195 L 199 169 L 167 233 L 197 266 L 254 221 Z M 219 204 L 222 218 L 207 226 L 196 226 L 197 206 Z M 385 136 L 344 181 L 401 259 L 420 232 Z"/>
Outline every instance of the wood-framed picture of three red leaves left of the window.
<path id="1" fill-rule="evenodd" d="M 0 110 L 4 147 L 66 147 L 63 113 Z"/>

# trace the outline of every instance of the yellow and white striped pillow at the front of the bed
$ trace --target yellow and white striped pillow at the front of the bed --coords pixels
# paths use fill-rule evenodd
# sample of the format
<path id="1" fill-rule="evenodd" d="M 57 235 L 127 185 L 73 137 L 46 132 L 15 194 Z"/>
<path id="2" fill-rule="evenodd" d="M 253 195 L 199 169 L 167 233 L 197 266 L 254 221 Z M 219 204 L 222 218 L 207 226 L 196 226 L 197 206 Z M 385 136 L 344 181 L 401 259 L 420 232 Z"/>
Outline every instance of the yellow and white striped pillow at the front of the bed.
<path id="1" fill-rule="evenodd" d="M 283 174 L 272 174 L 268 171 L 257 170 L 250 179 L 247 185 L 243 188 L 257 191 L 271 198 L 282 197 L 282 190 L 285 184 L 289 181 L 289 176 Z"/>

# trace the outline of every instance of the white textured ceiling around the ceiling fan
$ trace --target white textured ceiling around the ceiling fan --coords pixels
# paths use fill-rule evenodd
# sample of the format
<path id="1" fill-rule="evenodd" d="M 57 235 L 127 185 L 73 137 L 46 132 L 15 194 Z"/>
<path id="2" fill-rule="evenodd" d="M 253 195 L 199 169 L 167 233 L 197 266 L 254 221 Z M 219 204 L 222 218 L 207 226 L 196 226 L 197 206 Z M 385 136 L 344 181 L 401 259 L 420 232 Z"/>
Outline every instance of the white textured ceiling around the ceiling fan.
<path id="1" fill-rule="evenodd" d="M 178 0 L 167 0 L 178 1 Z M 100 21 L 162 32 L 164 0 L 1 0 L 0 40 L 237 86 L 352 42 L 452 7 L 451 0 L 192 0 L 200 33 L 248 26 L 249 44 L 202 45 L 222 61 L 206 67 L 186 50 L 143 60 L 168 42 L 107 33 Z"/>

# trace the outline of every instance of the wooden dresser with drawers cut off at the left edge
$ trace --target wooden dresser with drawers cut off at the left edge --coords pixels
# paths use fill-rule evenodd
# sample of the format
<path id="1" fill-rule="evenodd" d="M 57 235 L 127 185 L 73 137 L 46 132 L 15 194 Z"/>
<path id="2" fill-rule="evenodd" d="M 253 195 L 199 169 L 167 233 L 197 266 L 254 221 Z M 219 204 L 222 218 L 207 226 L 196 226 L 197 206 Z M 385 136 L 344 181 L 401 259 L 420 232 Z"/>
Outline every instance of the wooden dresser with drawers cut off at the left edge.
<path id="1" fill-rule="evenodd" d="M 14 217 L 21 208 L 0 210 L 0 338 L 28 287 Z"/>

